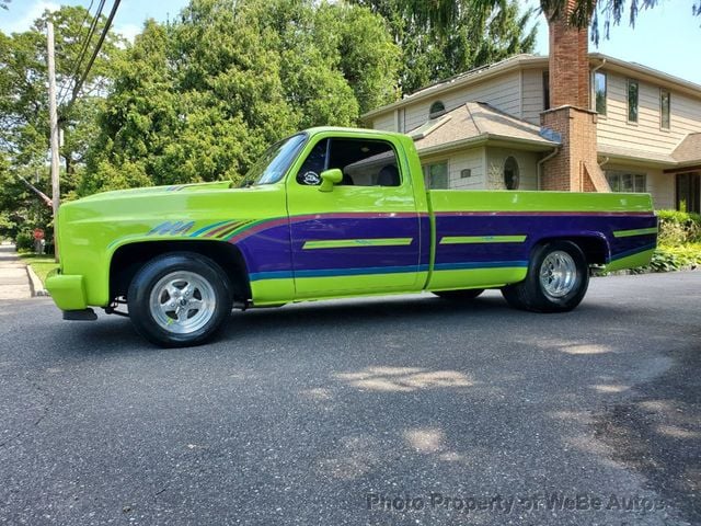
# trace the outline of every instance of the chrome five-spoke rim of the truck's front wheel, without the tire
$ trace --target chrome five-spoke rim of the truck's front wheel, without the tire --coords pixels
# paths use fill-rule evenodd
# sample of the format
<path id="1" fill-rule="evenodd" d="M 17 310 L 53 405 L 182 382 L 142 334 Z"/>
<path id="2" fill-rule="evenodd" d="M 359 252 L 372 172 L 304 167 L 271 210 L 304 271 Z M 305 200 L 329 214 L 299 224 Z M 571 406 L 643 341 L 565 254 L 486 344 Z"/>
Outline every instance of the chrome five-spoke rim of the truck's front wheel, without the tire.
<path id="1" fill-rule="evenodd" d="M 205 327 L 215 315 L 216 306 L 211 284 L 188 271 L 166 274 L 149 297 L 149 310 L 156 323 L 176 334 L 189 334 Z"/>

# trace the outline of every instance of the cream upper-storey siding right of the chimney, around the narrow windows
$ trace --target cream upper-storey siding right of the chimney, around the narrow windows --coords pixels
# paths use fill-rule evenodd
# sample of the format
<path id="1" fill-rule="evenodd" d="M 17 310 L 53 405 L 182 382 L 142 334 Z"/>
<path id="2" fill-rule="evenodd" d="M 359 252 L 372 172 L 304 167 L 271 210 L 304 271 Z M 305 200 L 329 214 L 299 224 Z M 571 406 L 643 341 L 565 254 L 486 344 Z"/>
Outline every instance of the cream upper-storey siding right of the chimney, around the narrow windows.
<path id="1" fill-rule="evenodd" d="M 628 77 L 607 73 L 607 115 L 598 118 L 599 145 L 670 153 L 687 134 L 701 132 L 701 100 L 675 91 L 671 91 L 671 126 L 662 130 L 659 87 L 643 81 L 639 81 L 637 124 L 628 123 Z"/>

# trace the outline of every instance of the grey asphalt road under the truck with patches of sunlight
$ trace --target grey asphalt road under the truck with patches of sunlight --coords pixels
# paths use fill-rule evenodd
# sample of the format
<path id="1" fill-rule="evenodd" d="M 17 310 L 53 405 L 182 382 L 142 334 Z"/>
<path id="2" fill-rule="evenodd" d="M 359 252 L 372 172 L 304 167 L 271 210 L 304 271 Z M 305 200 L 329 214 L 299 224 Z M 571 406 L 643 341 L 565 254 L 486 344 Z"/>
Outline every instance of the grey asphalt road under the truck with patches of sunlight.
<path id="1" fill-rule="evenodd" d="M 701 272 L 566 315 L 429 295 L 160 350 L 0 306 L 2 524 L 701 524 Z M 598 507 L 598 510 L 597 510 Z"/>

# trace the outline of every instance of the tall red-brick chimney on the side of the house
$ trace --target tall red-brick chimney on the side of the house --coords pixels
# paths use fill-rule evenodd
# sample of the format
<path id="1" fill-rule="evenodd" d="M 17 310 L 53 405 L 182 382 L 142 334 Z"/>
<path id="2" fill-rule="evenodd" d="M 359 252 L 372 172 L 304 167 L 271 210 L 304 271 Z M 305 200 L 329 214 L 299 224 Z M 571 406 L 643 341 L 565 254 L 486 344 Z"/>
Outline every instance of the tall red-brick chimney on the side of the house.
<path id="1" fill-rule="evenodd" d="M 567 192 L 609 192 L 597 162 L 597 114 L 590 110 L 589 32 L 570 24 L 576 4 L 565 9 L 550 26 L 550 106 L 540 122 L 560 135 L 562 147 L 543 165 L 542 190 Z"/>

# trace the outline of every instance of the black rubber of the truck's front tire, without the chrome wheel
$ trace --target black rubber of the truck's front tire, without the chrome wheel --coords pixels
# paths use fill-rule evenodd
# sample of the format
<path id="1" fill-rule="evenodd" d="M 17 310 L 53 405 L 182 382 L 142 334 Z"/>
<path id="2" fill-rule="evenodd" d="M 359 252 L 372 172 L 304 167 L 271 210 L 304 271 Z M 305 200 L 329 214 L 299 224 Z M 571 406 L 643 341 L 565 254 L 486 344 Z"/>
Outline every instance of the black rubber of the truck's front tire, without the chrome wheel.
<path id="1" fill-rule="evenodd" d="M 165 275 L 187 271 L 206 279 L 215 291 L 216 306 L 211 318 L 197 331 L 177 334 L 165 331 L 153 319 L 149 302 L 153 286 Z M 127 294 L 129 318 L 137 332 L 151 343 L 166 347 L 204 343 L 219 329 L 231 312 L 231 293 L 223 271 L 214 261 L 195 253 L 171 253 L 158 256 L 143 265 L 134 276 Z"/>

